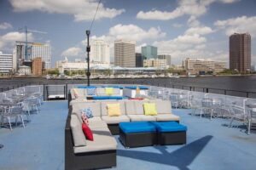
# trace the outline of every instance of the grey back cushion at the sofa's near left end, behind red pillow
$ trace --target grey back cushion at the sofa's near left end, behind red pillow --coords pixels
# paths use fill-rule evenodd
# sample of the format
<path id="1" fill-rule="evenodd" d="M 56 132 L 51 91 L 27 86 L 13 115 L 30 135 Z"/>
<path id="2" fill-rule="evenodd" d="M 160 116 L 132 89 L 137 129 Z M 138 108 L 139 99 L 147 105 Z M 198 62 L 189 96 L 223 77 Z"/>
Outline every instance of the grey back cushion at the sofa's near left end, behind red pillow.
<path id="1" fill-rule="evenodd" d="M 79 118 L 77 116 L 71 116 L 70 127 L 74 146 L 86 146 L 86 139 L 82 130 L 82 124 L 79 122 Z"/>

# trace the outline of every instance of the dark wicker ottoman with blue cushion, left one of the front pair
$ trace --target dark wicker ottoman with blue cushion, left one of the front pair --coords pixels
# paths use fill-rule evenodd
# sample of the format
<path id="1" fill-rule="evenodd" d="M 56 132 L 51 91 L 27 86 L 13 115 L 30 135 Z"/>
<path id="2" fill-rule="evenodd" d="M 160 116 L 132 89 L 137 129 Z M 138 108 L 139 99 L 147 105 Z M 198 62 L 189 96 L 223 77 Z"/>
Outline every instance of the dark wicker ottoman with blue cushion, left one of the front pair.
<path id="1" fill-rule="evenodd" d="M 119 139 L 126 148 L 157 144 L 157 133 L 151 122 L 120 122 Z"/>

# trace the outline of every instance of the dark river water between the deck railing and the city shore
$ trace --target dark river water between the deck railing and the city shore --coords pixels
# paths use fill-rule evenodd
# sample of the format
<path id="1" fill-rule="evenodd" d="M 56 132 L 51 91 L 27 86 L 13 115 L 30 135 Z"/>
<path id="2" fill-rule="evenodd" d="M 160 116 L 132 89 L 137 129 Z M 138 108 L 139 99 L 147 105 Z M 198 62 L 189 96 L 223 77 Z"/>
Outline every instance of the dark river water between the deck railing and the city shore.
<path id="1" fill-rule="evenodd" d="M 256 98 L 256 76 L 252 77 L 184 77 L 184 78 L 140 78 L 140 79 L 100 79 L 91 80 L 91 83 L 117 83 L 117 84 L 147 84 L 170 88 L 183 88 L 201 92 L 208 92 L 214 94 L 230 94 L 241 97 Z M 11 88 L 17 88 L 25 85 L 38 84 L 78 84 L 87 83 L 87 80 L 47 80 L 45 78 L 13 78 L 0 79 L 0 92 Z M 207 89 L 208 88 L 208 89 Z M 218 89 L 216 89 L 218 88 Z M 226 89 L 224 91 L 223 89 Z M 235 91 L 241 92 L 235 92 Z M 244 92 L 254 92 L 244 93 Z"/>

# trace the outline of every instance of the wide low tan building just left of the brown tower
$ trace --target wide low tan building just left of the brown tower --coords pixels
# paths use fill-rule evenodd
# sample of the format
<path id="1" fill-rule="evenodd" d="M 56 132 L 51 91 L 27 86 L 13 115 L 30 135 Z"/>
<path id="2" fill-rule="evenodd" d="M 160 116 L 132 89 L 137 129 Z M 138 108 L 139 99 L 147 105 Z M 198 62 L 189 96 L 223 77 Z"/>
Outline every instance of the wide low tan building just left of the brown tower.
<path id="1" fill-rule="evenodd" d="M 184 59 L 183 67 L 188 74 L 213 74 L 224 71 L 226 63 L 224 61 L 213 61 L 209 59 Z"/>

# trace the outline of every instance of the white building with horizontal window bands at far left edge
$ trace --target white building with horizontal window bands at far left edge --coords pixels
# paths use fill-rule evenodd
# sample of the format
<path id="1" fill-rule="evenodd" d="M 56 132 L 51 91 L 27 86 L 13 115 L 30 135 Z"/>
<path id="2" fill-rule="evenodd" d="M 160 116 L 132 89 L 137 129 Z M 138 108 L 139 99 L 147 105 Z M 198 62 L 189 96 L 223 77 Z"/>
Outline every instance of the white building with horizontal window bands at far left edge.
<path id="1" fill-rule="evenodd" d="M 3 54 L 0 51 L 0 74 L 9 73 L 13 69 L 13 55 Z"/>

